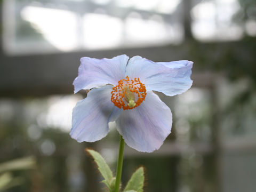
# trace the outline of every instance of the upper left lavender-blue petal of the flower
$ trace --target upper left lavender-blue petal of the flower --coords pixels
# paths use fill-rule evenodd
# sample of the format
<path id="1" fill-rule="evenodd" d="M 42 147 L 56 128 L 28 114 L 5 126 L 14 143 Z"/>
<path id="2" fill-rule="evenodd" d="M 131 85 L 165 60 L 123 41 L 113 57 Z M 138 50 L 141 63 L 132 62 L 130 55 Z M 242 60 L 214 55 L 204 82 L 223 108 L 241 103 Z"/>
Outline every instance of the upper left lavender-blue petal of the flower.
<path id="1" fill-rule="evenodd" d="M 129 57 L 119 55 L 112 59 L 83 57 L 78 69 L 78 76 L 73 85 L 75 93 L 82 89 L 91 89 L 106 84 L 117 85 L 125 77 L 125 68 Z"/>

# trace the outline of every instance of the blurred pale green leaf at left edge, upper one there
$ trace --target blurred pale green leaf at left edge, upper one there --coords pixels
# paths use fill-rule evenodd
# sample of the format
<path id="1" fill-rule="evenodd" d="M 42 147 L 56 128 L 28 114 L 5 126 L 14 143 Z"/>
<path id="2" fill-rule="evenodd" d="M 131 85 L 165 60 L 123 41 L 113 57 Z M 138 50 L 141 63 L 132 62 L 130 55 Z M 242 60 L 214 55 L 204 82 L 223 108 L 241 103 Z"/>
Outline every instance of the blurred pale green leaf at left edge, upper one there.
<path id="1" fill-rule="evenodd" d="M 35 167 L 34 157 L 24 157 L 0 164 L 0 173 L 4 171 L 33 169 Z"/>

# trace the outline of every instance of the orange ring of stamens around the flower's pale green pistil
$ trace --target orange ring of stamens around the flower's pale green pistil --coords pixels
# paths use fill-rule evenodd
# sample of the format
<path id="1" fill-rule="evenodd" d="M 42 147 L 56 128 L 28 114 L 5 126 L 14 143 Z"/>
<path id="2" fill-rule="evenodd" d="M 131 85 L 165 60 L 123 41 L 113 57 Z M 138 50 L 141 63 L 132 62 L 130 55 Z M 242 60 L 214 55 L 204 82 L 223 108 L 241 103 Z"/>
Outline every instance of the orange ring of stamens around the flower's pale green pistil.
<path id="1" fill-rule="evenodd" d="M 145 100 L 146 87 L 140 82 L 140 78 L 131 79 L 126 76 L 125 79 L 118 81 L 111 91 L 111 101 L 118 108 L 133 109 L 138 107 Z"/>

